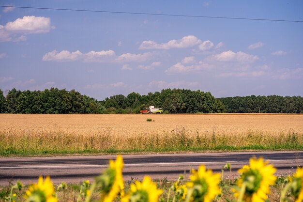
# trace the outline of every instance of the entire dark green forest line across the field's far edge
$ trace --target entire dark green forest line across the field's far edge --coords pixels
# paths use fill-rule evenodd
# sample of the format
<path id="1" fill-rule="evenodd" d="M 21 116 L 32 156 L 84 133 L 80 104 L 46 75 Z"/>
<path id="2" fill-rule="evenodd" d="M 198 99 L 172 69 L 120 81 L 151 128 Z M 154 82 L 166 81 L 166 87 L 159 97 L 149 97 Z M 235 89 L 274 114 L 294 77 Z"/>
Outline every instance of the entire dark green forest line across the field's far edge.
<path id="1" fill-rule="evenodd" d="M 130 93 L 98 101 L 58 88 L 44 91 L 0 90 L 0 113 L 139 113 L 149 106 L 165 113 L 303 113 L 303 97 L 246 96 L 215 98 L 209 92 L 164 89 L 140 95 Z"/>

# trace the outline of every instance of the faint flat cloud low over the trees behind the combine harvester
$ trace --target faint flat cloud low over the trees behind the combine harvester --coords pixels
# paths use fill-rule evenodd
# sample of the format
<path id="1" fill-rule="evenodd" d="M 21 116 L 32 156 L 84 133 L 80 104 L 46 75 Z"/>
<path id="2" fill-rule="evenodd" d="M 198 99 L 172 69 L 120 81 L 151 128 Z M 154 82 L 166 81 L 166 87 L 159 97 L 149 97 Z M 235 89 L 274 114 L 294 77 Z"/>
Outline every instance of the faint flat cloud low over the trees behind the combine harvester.
<path id="1" fill-rule="evenodd" d="M 152 89 L 166 89 L 166 88 L 189 88 L 198 86 L 198 82 L 186 82 L 186 81 L 175 81 L 175 82 L 166 82 L 166 81 L 157 81 L 153 80 L 149 83 L 149 87 Z"/>

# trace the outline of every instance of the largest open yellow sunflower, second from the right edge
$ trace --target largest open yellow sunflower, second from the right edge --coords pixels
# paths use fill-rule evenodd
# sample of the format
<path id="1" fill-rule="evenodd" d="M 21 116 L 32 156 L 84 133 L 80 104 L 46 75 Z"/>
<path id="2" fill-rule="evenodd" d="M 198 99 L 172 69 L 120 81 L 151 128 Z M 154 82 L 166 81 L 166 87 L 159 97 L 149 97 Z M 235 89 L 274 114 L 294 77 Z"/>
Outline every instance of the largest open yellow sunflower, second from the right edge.
<path id="1" fill-rule="evenodd" d="M 245 202 L 264 202 L 270 193 L 269 186 L 275 183 L 276 177 L 273 175 L 275 171 L 273 165 L 268 165 L 262 157 L 251 158 L 249 166 L 245 165 L 238 171 L 241 177 L 237 181 L 239 189 L 233 189 L 235 196 L 238 198 L 241 195 L 240 200 Z"/>

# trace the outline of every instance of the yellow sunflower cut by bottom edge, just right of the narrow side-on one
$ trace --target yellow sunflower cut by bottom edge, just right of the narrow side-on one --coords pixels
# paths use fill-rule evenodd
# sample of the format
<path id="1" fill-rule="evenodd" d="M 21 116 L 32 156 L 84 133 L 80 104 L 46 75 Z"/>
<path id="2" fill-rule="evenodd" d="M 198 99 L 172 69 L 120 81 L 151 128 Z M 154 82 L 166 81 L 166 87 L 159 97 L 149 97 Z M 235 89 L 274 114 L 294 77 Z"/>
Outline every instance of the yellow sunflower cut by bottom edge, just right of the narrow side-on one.
<path id="1" fill-rule="evenodd" d="M 136 181 L 135 184 L 131 184 L 130 192 L 121 202 L 158 202 L 162 192 L 161 189 L 157 189 L 151 177 L 145 176 L 142 183 Z"/>

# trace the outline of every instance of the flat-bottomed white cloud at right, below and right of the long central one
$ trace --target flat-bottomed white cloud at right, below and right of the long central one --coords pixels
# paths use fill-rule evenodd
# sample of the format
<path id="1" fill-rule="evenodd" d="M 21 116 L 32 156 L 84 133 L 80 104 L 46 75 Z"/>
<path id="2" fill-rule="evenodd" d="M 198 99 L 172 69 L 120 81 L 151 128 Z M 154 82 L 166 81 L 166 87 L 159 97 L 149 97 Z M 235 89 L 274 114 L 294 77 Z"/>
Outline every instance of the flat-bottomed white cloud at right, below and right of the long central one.
<path id="1" fill-rule="evenodd" d="M 258 56 L 243 53 L 241 51 L 235 53 L 228 50 L 220 54 L 212 55 L 210 59 L 218 62 L 255 62 L 258 60 Z"/>

